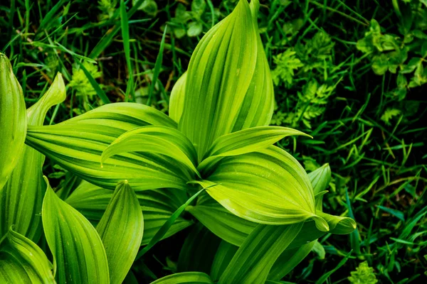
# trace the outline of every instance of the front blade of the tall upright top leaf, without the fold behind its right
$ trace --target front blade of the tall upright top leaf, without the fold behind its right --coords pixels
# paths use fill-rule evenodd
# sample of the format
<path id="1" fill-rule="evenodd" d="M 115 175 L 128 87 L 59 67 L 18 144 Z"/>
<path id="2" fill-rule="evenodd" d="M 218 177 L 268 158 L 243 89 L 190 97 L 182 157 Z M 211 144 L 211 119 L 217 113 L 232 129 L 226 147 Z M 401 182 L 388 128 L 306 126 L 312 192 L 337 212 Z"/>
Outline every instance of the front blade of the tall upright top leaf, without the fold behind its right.
<path id="1" fill-rule="evenodd" d="M 199 160 L 216 138 L 235 129 L 255 72 L 257 49 L 251 9 L 241 0 L 194 50 L 179 129 L 194 143 Z"/>

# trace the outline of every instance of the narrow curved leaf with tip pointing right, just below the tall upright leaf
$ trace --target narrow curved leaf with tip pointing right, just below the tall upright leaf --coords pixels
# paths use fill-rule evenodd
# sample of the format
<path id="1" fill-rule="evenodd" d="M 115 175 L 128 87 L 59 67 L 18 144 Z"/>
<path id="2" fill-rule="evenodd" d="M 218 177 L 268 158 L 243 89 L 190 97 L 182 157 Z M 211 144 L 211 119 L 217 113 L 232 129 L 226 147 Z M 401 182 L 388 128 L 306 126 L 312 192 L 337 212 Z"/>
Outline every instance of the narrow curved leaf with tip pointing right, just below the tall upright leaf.
<path id="1" fill-rule="evenodd" d="M 198 168 L 201 171 L 209 170 L 220 157 L 259 151 L 292 135 L 309 136 L 301 131 L 280 126 L 258 126 L 223 135 L 216 138 Z"/>

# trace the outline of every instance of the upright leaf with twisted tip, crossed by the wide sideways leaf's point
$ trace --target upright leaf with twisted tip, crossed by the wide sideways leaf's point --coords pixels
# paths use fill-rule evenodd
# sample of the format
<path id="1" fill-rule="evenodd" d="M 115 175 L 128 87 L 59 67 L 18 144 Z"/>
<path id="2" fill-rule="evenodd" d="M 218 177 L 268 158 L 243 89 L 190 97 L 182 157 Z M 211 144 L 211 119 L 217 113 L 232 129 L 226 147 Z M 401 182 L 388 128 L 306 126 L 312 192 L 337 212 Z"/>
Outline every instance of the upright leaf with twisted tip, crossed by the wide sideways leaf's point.
<path id="1" fill-rule="evenodd" d="M 53 80 L 48 92 L 27 110 L 28 124 L 43 125 L 46 112 L 65 99 L 65 84 L 62 75 Z M 33 241 L 41 235 L 41 203 L 46 183 L 43 180 L 44 155 L 29 146 L 24 146 L 19 163 L 0 192 L 0 236 L 14 230 Z"/>

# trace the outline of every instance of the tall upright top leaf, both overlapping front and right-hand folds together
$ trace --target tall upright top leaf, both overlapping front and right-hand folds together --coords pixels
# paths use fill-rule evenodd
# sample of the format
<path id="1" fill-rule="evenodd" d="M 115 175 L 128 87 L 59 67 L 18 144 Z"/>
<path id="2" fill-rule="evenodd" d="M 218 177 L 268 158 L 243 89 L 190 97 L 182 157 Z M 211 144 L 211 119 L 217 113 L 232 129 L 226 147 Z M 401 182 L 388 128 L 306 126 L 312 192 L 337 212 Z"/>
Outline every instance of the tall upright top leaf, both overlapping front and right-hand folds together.
<path id="1" fill-rule="evenodd" d="M 248 1 L 239 1 L 191 56 L 179 129 L 194 143 L 199 161 L 219 136 L 270 122 L 273 82 L 255 14 Z"/>

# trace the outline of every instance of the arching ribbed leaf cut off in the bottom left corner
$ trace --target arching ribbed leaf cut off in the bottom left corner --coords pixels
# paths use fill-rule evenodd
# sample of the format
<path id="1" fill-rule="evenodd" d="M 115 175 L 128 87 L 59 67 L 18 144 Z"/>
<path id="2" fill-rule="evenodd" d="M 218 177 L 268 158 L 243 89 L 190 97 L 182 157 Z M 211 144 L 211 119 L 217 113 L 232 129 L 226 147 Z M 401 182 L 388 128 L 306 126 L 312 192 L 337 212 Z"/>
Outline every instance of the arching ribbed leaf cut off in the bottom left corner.
<path id="1" fill-rule="evenodd" d="M 45 253 L 12 229 L 0 241 L 0 283 L 53 284 L 53 266 Z"/>

